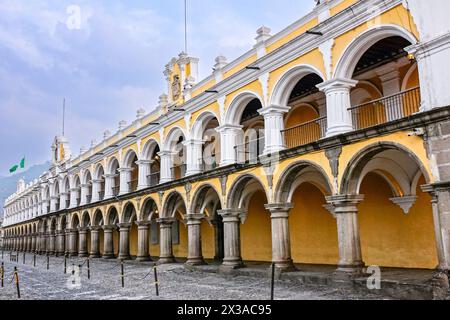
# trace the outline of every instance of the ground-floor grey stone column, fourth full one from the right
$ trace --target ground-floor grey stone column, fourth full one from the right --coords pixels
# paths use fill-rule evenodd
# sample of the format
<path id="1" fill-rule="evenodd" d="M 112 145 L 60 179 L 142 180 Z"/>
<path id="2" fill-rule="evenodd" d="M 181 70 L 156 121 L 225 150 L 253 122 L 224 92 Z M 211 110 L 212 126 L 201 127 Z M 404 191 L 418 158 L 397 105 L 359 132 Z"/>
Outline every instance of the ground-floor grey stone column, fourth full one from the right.
<path id="1" fill-rule="evenodd" d="M 202 234 L 201 226 L 202 214 L 189 214 L 187 216 L 188 226 L 188 259 L 186 264 L 191 266 L 204 265 L 202 254 Z"/>

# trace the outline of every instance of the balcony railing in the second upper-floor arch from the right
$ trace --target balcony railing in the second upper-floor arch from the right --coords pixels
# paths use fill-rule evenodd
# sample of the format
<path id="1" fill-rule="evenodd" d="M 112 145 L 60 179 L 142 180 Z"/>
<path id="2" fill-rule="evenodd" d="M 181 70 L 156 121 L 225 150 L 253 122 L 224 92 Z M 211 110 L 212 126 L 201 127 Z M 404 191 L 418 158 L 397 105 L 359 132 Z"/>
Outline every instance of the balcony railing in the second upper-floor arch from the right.
<path id="1" fill-rule="evenodd" d="M 283 130 L 283 137 L 288 149 L 302 146 L 325 137 L 327 117 L 302 123 L 296 127 Z"/>

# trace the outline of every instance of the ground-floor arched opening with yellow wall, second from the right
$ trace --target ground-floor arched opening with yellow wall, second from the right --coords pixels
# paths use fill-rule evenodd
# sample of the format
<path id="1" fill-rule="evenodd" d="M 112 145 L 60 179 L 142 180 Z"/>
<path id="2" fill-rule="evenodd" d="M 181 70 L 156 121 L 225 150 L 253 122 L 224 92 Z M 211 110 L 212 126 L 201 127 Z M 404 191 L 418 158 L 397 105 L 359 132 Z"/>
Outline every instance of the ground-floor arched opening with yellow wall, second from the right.
<path id="1" fill-rule="evenodd" d="M 294 263 L 336 265 L 339 261 L 336 219 L 325 197 L 331 186 L 324 171 L 310 163 L 289 167 L 281 176 L 277 203 L 291 203 L 289 229 Z"/>

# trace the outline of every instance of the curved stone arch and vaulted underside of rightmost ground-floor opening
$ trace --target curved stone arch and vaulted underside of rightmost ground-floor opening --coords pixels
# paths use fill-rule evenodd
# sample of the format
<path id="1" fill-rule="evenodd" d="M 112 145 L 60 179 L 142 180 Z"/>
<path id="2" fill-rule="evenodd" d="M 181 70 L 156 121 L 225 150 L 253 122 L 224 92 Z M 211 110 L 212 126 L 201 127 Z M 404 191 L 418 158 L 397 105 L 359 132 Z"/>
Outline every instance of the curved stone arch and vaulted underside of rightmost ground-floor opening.
<path id="1" fill-rule="evenodd" d="M 397 158 L 395 160 L 392 159 L 392 155 L 389 157 L 385 156 L 383 157 L 383 162 L 385 163 L 384 166 L 381 163 L 371 166 L 370 162 L 373 161 L 375 157 L 380 154 L 382 155 L 383 152 L 388 151 L 397 152 L 396 156 L 403 156 L 403 158 Z M 412 167 L 409 170 L 410 172 L 402 172 L 399 170 L 395 172 L 396 170 L 394 169 L 405 168 L 405 161 L 408 161 L 408 159 Z M 401 161 L 402 163 L 399 164 L 398 161 Z M 414 167 L 412 164 L 415 164 L 417 166 L 417 170 L 414 171 Z M 393 167 L 394 165 L 396 166 Z M 427 183 L 431 181 L 428 171 L 426 170 L 420 159 L 414 154 L 414 152 L 398 143 L 379 142 L 365 147 L 364 149 L 360 150 L 355 156 L 353 156 L 345 169 L 341 182 L 340 193 L 359 194 L 362 180 L 367 173 L 372 171 L 382 176 L 382 178 L 389 183 L 394 196 L 410 196 L 415 193 L 412 188 L 414 183 L 417 181 L 416 176 L 418 174 L 418 171 L 423 174 Z M 406 178 L 410 180 L 409 183 L 408 181 L 405 181 Z M 408 185 L 409 188 L 407 187 Z"/>

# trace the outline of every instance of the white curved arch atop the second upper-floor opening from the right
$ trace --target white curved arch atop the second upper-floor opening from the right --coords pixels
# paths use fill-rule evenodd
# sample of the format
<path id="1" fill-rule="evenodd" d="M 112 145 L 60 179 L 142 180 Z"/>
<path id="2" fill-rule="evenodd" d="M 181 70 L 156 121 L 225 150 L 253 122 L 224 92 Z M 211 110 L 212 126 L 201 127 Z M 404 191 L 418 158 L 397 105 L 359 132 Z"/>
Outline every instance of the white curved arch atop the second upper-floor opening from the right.
<path id="1" fill-rule="evenodd" d="M 326 79 L 322 72 L 314 66 L 301 64 L 283 73 L 275 84 L 270 97 L 270 105 L 287 106 L 292 90 L 297 83 L 309 74 L 316 74 Z"/>

